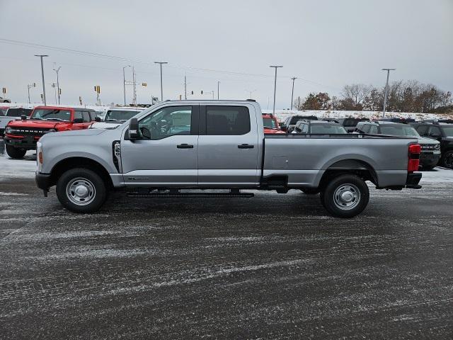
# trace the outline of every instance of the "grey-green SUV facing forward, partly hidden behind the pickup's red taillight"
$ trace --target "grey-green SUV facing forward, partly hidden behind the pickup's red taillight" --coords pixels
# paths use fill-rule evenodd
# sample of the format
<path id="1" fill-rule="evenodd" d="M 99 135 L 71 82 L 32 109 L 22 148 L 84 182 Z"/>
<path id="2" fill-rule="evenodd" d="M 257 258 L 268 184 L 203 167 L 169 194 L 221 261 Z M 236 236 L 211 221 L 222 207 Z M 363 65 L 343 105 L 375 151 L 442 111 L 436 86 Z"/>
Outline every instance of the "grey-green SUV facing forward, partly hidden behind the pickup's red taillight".
<path id="1" fill-rule="evenodd" d="M 440 143 L 430 138 L 420 137 L 412 125 L 392 122 L 360 122 L 357 124 L 357 132 L 377 134 L 417 137 L 421 147 L 420 166 L 425 170 L 434 168 L 440 159 Z"/>

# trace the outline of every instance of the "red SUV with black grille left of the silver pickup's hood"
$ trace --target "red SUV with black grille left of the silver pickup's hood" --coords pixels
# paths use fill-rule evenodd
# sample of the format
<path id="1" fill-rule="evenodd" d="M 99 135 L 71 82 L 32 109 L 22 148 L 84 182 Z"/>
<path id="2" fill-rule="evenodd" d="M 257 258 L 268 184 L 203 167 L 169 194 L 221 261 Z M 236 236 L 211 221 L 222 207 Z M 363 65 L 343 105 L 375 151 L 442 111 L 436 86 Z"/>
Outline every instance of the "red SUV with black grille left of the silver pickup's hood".
<path id="1" fill-rule="evenodd" d="M 36 149 L 36 142 L 49 132 L 83 130 L 96 118 L 88 108 L 36 106 L 30 118 L 13 120 L 5 128 L 6 153 L 11 158 L 22 158 L 27 150 Z"/>

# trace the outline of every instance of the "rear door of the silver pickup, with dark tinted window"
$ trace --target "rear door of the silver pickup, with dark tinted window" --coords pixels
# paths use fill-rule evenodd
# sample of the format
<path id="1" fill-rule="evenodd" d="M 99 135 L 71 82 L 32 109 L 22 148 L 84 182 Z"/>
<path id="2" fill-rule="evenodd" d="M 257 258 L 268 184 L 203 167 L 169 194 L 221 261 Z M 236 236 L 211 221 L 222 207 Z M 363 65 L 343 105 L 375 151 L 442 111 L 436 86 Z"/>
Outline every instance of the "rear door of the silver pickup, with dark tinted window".
<path id="1" fill-rule="evenodd" d="M 253 106 L 200 106 L 200 187 L 256 186 L 260 176 L 257 126 Z"/>

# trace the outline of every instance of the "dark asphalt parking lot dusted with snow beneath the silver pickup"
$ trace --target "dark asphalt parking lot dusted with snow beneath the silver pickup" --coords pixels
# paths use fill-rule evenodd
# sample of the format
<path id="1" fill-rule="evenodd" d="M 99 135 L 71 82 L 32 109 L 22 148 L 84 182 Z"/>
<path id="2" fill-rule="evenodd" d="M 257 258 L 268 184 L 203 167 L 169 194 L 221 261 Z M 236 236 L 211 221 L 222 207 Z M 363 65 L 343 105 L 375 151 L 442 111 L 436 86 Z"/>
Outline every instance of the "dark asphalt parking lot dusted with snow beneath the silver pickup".
<path id="1" fill-rule="evenodd" d="M 64 210 L 0 181 L 1 339 L 452 339 L 453 187 Z"/>

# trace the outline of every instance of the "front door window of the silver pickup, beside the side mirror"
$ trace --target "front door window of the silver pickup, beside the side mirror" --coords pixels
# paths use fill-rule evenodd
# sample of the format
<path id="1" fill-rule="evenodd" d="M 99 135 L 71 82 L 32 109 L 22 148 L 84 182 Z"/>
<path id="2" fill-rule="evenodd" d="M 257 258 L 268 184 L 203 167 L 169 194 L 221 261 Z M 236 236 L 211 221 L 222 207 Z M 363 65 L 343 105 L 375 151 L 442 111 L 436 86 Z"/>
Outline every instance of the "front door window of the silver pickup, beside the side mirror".
<path id="1" fill-rule="evenodd" d="M 174 135 L 190 135 L 192 106 L 168 106 L 139 121 L 143 140 L 161 140 Z"/>

